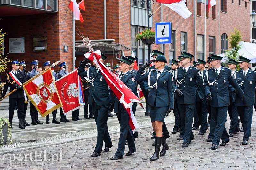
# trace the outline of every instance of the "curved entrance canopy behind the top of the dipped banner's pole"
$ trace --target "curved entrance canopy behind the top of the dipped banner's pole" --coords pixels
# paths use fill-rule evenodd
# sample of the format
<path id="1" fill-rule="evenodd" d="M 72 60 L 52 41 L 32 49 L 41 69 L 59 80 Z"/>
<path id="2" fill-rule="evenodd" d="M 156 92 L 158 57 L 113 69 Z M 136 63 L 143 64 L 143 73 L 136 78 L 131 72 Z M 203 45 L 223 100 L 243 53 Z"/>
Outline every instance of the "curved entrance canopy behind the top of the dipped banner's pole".
<path id="1" fill-rule="evenodd" d="M 93 42 L 93 41 L 97 41 L 97 42 Z M 121 45 L 119 43 L 115 43 L 113 41 L 103 40 L 99 42 L 99 40 L 92 40 L 91 47 L 94 49 L 94 51 L 100 50 L 101 53 L 104 53 L 104 54 L 112 54 L 113 51 L 114 53 L 118 53 L 120 51 L 130 50 L 130 48 L 124 45 Z M 75 49 L 76 49 L 76 55 L 84 55 L 85 53 L 89 52 L 89 49 L 83 46 L 83 43 L 81 41 L 76 41 Z"/>

